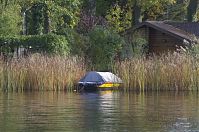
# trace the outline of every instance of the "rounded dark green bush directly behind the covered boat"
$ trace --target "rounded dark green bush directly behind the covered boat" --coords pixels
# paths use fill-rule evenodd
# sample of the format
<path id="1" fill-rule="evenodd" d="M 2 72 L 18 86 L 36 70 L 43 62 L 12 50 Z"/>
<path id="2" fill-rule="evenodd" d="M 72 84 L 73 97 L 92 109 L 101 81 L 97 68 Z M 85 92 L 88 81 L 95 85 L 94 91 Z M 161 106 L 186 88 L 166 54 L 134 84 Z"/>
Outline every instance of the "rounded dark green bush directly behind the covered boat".
<path id="1" fill-rule="evenodd" d="M 98 70 L 110 69 L 111 63 L 119 59 L 124 40 L 110 29 L 97 26 L 89 33 L 88 55 Z"/>

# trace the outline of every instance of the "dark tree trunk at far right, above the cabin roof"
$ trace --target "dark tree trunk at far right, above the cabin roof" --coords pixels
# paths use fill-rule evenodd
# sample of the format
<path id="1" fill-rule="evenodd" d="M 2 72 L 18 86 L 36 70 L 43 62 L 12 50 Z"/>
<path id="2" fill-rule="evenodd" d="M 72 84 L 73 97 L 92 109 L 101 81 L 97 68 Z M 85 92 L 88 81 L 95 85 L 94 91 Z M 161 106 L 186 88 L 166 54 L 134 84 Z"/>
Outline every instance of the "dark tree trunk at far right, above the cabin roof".
<path id="1" fill-rule="evenodd" d="M 194 21 L 194 15 L 197 12 L 199 6 L 199 0 L 190 0 L 189 5 L 187 7 L 187 20 L 188 22 Z"/>

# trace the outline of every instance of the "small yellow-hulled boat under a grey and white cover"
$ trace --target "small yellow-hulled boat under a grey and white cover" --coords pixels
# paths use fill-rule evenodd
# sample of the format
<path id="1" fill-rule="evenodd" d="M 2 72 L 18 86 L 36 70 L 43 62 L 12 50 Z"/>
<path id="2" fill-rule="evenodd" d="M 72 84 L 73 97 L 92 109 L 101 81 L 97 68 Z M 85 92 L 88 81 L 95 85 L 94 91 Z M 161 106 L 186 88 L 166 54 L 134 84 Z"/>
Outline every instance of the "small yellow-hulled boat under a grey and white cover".
<path id="1" fill-rule="evenodd" d="M 88 72 L 78 82 L 78 90 L 105 90 L 115 89 L 122 80 L 111 72 Z"/>

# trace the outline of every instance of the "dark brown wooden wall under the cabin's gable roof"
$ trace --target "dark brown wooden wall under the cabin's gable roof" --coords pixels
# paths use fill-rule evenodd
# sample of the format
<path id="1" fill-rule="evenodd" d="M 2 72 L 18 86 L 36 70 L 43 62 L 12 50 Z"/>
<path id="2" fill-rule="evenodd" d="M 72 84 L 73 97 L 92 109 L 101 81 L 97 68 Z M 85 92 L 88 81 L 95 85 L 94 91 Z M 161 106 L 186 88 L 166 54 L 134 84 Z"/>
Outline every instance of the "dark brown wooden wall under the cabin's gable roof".
<path id="1" fill-rule="evenodd" d="M 175 51 L 177 46 L 182 46 L 183 42 L 169 34 L 149 27 L 149 53 L 165 53 Z"/>

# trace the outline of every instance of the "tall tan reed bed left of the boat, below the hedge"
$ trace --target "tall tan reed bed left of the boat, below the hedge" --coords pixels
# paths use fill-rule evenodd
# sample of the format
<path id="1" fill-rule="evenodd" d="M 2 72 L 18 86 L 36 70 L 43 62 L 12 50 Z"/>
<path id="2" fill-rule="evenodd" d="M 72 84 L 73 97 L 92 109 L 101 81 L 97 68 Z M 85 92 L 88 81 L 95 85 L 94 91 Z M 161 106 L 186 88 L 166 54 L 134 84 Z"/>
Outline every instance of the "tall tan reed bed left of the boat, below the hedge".
<path id="1" fill-rule="evenodd" d="M 85 73 L 76 57 L 41 56 L 0 60 L 0 87 L 8 91 L 71 90 Z"/>

